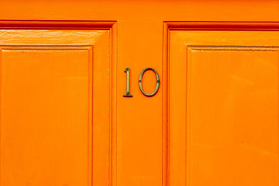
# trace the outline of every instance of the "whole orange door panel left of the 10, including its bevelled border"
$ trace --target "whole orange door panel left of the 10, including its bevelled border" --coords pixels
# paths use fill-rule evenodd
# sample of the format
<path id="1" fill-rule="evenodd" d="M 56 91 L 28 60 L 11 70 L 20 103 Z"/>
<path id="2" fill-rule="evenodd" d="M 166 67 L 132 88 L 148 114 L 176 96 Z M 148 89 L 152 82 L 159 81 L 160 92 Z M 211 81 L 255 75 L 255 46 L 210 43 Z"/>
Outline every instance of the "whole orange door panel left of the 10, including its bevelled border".
<path id="1" fill-rule="evenodd" d="M 110 30 L 0 38 L 1 185 L 108 185 Z"/>

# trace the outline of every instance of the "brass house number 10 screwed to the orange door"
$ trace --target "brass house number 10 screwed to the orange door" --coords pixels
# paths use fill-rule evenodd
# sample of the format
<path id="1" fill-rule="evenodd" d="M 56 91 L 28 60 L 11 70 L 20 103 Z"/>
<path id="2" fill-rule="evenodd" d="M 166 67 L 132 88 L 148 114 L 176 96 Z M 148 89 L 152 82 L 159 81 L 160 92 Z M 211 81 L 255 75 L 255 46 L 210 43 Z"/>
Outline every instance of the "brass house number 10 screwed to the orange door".
<path id="1" fill-rule="evenodd" d="M 156 88 L 155 91 L 153 91 L 153 93 L 146 93 L 144 92 L 144 89 L 142 88 L 142 77 L 144 76 L 144 72 L 146 72 L 147 70 L 152 70 L 155 75 L 156 75 Z M 124 71 L 126 72 L 126 93 L 123 95 L 123 97 L 133 97 L 133 95 L 130 93 L 130 68 L 126 68 L 126 70 Z M 142 70 L 142 72 L 140 72 L 140 77 L 139 77 L 139 86 L 140 86 L 140 91 L 142 91 L 142 93 L 148 97 L 151 97 L 153 95 L 155 95 L 160 87 L 160 77 L 158 75 L 158 72 L 154 69 L 154 68 L 144 68 L 144 70 Z"/>

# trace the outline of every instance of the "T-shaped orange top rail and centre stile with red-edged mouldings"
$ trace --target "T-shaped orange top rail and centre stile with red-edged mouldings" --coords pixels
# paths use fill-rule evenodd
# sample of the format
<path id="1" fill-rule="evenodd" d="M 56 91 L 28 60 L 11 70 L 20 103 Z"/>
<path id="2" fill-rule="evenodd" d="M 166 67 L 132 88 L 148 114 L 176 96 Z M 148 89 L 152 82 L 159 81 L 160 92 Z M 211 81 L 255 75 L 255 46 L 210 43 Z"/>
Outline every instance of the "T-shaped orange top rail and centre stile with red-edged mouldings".
<path id="1" fill-rule="evenodd" d="M 197 22 L 207 24 L 206 28 L 199 28 L 201 31 L 205 29 L 237 30 L 247 28 L 253 24 L 251 22 L 257 22 L 255 24 L 269 22 L 270 26 L 266 30 L 276 30 L 278 28 L 276 22 L 279 20 L 278 6 L 278 1 L 273 0 L 26 0 L 24 2 L 2 0 L 0 1 L 0 20 L 6 20 L 2 28 L 20 31 L 43 29 L 43 27 L 52 30 L 80 31 L 80 29 L 88 29 L 86 24 L 92 25 L 89 26 L 89 30 L 94 26 L 103 30 L 104 25 L 105 30 L 107 27 L 113 28 L 110 29 L 112 31 L 110 54 L 114 61 L 111 63 L 110 98 L 112 101 L 110 107 L 113 111 L 110 119 L 113 124 L 110 132 L 111 140 L 114 142 L 111 144 L 110 153 L 113 154 L 111 161 L 115 163 L 112 163 L 112 168 L 110 168 L 110 180 L 112 180 L 110 184 L 165 186 L 168 184 L 169 94 L 167 82 L 170 79 L 167 71 L 169 69 L 167 63 L 169 32 L 167 27 L 163 26 L 163 22 L 179 21 L 179 23 L 173 23 L 173 29 L 175 29 L 174 24 L 182 24 L 178 26 L 181 27 L 180 29 L 183 29 L 183 26 L 189 28 L 189 24 L 193 24 L 190 22 L 196 22 L 192 25 L 194 27 L 197 26 Z M 61 20 L 67 20 L 67 22 Z M 31 27 L 32 24 L 36 25 Z M 227 25 L 223 27 L 224 25 L 220 24 Z M 234 28 L 232 24 L 235 25 Z M 179 29 L 178 27 L 176 29 Z M 255 30 L 255 28 L 249 29 Z M 87 45 L 85 44 L 86 36 L 83 39 L 84 45 Z M 55 43 L 52 39 L 50 41 Z M 163 42 L 165 42 L 164 46 Z M 47 42 L 43 45 L 47 45 Z M 123 70 L 127 67 L 131 69 L 131 90 L 134 91 L 134 100 L 122 98 L 126 87 Z M 142 97 L 138 84 L 135 83 L 138 81 L 140 71 L 146 67 L 156 68 L 160 77 L 163 77 L 160 90 L 151 101 Z M 146 74 L 145 78 L 146 91 L 153 90 L 153 76 Z M 152 84 L 149 84 L 149 81 Z"/>

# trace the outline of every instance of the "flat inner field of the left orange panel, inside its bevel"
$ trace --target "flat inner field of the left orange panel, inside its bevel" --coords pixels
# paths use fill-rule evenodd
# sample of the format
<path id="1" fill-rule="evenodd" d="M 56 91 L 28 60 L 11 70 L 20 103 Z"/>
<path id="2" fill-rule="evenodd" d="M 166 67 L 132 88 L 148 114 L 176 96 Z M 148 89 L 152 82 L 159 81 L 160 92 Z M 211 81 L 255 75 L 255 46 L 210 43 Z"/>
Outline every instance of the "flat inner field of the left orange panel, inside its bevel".
<path id="1" fill-rule="evenodd" d="M 89 49 L 2 49 L 4 185 L 88 185 L 92 146 L 90 55 Z"/>

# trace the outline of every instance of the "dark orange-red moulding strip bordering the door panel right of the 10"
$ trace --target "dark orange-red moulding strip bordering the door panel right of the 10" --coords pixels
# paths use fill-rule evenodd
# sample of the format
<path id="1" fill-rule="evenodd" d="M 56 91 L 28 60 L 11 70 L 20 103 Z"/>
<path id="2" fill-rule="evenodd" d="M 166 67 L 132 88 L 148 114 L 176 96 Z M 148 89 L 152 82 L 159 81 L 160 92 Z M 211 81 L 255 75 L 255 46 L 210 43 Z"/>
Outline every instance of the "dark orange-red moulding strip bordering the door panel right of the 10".
<path id="1" fill-rule="evenodd" d="M 163 186 L 174 186 L 169 185 L 169 40 L 172 30 L 279 31 L 279 22 L 163 22 Z"/>

